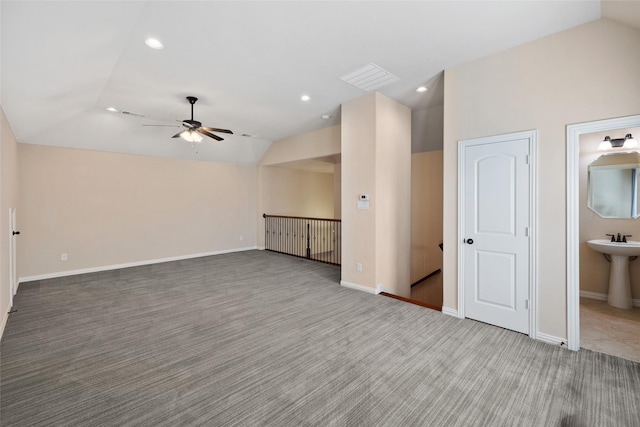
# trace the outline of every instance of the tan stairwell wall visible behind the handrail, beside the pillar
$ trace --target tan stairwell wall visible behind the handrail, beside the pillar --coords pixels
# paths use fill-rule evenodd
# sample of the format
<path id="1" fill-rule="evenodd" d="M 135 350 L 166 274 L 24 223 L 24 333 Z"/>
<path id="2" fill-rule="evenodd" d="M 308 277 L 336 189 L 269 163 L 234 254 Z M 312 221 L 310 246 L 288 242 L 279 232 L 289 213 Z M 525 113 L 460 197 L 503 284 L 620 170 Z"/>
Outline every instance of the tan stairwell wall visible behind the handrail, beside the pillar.
<path id="1" fill-rule="evenodd" d="M 442 269 L 442 150 L 411 155 L 411 283 Z"/>

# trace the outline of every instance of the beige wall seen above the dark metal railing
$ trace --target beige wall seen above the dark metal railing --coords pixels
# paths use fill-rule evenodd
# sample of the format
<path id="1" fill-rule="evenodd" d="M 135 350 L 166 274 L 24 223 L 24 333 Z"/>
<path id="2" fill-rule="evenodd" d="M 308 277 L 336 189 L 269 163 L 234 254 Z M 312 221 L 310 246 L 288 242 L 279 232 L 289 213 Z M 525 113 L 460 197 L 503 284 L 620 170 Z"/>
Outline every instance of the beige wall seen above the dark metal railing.
<path id="1" fill-rule="evenodd" d="M 262 208 L 269 215 L 333 218 L 333 174 L 261 167 Z"/>

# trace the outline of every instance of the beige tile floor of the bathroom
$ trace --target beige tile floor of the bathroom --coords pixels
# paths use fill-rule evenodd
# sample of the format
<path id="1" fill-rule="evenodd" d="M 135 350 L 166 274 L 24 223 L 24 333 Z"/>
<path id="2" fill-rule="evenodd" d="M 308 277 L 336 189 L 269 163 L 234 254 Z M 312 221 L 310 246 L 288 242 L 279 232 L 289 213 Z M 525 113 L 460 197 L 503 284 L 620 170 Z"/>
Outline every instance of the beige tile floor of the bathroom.
<path id="1" fill-rule="evenodd" d="M 580 298 L 580 346 L 640 362 L 640 307 L 611 307 Z"/>

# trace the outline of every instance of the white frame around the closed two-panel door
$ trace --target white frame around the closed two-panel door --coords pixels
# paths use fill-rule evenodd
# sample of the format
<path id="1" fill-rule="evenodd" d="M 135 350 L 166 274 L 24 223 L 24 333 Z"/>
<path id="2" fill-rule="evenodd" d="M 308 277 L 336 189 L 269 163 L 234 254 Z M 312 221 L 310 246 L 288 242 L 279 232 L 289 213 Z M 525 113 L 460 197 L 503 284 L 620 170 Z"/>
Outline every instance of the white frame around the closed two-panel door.
<path id="1" fill-rule="evenodd" d="M 465 317 L 465 286 L 464 286 L 464 250 L 462 250 L 462 236 L 465 236 L 464 217 L 465 198 L 463 193 L 463 184 L 467 171 L 465 170 L 465 148 L 471 145 L 490 144 L 498 142 L 513 141 L 515 139 L 529 140 L 529 337 L 536 339 L 537 337 L 537 256 L 536 256 L 536 240 L 537 240 L 537 164 L 536 157 L 538 152 L 538 131 L 530 130 L 524 132 L 509 133 L 504 135 L 489 136 L 484 138 L 474 138 L 458 141 L 458 317 Z"/>

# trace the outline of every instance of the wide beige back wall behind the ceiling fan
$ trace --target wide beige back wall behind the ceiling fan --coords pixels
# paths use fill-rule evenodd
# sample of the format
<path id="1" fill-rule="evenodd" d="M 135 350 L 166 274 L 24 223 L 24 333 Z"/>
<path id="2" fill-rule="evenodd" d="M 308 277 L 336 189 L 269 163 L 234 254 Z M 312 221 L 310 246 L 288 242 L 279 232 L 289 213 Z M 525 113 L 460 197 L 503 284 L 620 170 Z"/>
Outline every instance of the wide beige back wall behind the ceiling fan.
<path id="1" fill-rule="evenodd" d="M 256 246 L 254 166 L 27 144 L 18 154 L 22 278 Z"/>

